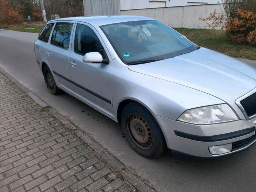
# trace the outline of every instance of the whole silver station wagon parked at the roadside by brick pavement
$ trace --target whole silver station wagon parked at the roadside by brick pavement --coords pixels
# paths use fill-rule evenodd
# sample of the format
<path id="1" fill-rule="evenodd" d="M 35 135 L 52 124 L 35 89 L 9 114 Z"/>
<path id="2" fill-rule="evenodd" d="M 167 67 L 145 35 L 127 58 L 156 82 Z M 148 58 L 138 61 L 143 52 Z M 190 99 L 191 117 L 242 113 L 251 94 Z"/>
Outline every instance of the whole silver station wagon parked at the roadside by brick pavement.
<path id="1" fill-rule="evenodd" d="M 51 20 L 34 44 L 60 90 L 122 124 L 145 157 L 232 154 L 256 141 L 256 69 L 140 16 Z"/>

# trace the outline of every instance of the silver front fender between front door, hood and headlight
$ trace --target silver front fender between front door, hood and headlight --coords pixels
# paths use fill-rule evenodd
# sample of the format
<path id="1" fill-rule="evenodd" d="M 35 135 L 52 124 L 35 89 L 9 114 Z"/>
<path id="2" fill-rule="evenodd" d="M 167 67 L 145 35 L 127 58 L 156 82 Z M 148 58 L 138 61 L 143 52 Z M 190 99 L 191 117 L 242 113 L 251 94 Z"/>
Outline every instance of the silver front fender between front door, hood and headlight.
<path id="1" fill-rule="evenodd" d="M 177 120 L 184 111 L 191 108 L 224 103 L 210 94 L 130 71 L 127 66 L 116 65 L 113 78 L 113 87 L 116 88 L 113 94 L 116 120 L 118 105 L 125 99 L 135 100 L 153 115 L 171 120 Z"/>

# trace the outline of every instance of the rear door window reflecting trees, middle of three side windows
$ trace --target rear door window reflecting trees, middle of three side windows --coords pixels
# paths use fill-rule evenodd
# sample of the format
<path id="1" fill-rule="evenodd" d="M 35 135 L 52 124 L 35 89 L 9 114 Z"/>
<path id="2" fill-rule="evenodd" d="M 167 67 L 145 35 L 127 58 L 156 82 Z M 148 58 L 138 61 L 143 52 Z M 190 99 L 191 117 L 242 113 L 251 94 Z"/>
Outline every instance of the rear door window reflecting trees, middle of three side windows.
<path id="1" fill-rule="evenodd" d="M 56 23 L 51 44 L 68 50 L 73 23 Z"/>

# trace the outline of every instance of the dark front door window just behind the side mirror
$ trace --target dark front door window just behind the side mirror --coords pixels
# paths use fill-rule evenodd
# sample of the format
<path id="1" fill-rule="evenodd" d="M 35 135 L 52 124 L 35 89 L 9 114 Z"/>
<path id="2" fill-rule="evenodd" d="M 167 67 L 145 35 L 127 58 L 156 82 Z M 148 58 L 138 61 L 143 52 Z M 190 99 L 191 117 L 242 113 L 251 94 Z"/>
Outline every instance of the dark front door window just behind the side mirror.
<path id="1" fill-rule="evenodd" d="M 106 57 L 98 36 L 90 27 L 83 24 L 76 25 L 74 51 L 80 55 L 85 55 L 89 52 L 99 52 L 103 58 Z"/>

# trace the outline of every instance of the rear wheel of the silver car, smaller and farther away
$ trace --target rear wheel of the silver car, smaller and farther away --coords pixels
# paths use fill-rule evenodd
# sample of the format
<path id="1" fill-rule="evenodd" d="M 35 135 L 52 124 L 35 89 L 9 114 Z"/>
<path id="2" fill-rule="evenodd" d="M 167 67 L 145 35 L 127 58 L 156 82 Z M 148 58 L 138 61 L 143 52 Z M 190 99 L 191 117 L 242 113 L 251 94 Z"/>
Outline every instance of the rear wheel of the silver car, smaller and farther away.
<path id="1" fill-rule="evenodd" d="M 43 74 L 49 92 L 53 95 L 60 94 L 62 91 L 57 87 L 52 72 L 47 65 L 44 66 Z"/>

